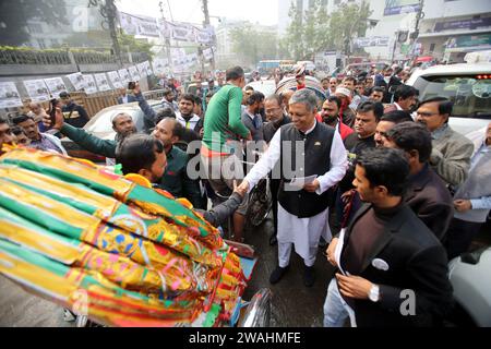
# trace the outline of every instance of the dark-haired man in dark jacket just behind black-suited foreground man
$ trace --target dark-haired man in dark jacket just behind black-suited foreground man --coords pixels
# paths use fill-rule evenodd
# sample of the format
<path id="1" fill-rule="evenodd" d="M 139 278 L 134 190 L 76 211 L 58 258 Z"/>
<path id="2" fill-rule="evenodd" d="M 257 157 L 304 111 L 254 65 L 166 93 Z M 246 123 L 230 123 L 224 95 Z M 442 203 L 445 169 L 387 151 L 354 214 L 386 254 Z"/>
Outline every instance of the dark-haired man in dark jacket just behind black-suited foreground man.
<path id="1" fill-rule="evenodd" d="M 388 131 L 387 139 L 386 145 L 404 151 L 409 160 L 406 203 L 435 237 L 443 241 L 454 216 L 454 205 L 445 183 L 428 163 L 432 152 L 430 132 L 415 122 L 404 122 Z"/>

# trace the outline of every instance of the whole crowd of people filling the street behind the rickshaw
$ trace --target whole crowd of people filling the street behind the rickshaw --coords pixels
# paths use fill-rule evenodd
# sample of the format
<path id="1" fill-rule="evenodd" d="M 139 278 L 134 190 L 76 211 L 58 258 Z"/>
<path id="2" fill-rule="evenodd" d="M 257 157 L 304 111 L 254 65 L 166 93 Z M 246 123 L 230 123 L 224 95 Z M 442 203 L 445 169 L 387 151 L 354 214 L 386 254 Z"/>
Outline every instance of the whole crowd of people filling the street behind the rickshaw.
<path id="1" fill-rule="evenodd" d="M 295 249 L 312 287 L 326 250 L 337 272 L 325 326 L 438 324 L 452 308 L 448 261 L 469 249 L 491 209 L 491 123 L 475 142 L 458 134 L 448 125 L 452 101 L 419 100 L 400 68 L 324 79 L 324 100 L 306 74 L 296 71 L 297 88 L 271 96 L 246 88 L 240 67 L 194 94 L 166 83 L 159 110 L 136 84 L 119 103 L 139 104 L 149 135 L 119 113 L 112 141 L 84 131 L 86 112 L 63 94 L 51 112 L 32 104 L 28 115 L 0 119 L 0 141 L 67 154 L 67 136 L 123 174 L 187 198 L 212 224 L 229 219 L 239 242 L 248 242 L 249 193 L 270 178 L 270 243 L 278 246 L 271 284 L 288 273 Z M 412 316 L 399 312 L 405 290 L 416 294 Z"/>

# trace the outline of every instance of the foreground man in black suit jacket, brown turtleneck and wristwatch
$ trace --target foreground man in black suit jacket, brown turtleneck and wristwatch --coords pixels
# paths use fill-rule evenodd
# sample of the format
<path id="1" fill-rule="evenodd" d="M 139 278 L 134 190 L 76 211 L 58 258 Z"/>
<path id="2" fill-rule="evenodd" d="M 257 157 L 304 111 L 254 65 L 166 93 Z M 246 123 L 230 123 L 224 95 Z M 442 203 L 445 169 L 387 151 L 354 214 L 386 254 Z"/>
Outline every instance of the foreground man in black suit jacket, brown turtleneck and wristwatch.
<path id="1" fill-rule="evenodd" d="M 445 251 L 404 203 L 409 164 L 398 149 L 367 149 L 354 184 L 363 206 L 333 239 L 339 268 L 324 304 L 324 325 L 432 326 L 452 305 Z"/>

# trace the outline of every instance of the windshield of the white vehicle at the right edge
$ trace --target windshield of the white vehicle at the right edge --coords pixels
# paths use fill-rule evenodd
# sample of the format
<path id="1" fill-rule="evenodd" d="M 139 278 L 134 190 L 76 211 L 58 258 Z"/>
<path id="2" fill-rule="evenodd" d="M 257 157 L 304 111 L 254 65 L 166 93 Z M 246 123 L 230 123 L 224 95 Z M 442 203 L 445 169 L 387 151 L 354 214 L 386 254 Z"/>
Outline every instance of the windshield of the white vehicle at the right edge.
<path id="1" fill-rule="evenodd" d="M 472 76 L 421 76 L 415 87 L 420 100 L 446 97 L 454 103 L 454 117 L 491 119 L 491 79 Z"/>

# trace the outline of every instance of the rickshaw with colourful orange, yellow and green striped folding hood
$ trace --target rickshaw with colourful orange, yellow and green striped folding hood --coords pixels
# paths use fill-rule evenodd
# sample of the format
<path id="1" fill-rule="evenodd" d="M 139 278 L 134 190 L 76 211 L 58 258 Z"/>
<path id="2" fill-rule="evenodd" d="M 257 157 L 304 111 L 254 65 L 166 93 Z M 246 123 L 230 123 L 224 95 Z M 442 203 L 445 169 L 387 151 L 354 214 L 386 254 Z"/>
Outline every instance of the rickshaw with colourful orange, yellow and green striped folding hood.
<path id="1" fill-rule="evenodd" d="M 0 274 L 77 326 L 268 326 L 272 293 L 242 296 L 258 257 L 185 200 L 87 160 L 0 156 Z"/>

